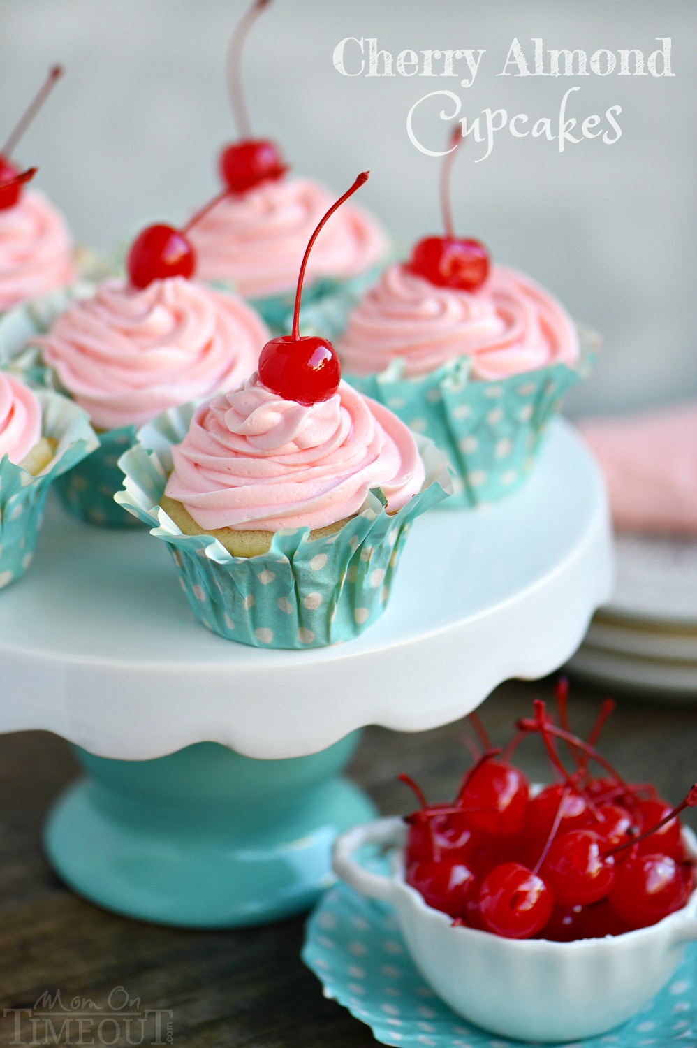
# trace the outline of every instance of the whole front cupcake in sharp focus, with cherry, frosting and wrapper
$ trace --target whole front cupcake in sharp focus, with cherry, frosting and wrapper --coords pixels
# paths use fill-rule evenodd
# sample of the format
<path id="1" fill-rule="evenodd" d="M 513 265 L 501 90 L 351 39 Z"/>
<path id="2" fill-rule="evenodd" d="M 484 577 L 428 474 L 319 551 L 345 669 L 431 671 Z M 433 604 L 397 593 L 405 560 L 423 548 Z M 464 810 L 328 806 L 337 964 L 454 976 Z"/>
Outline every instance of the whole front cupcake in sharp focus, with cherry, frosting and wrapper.
<path id="1" fill-rule="evenodd" d="M 412 520 L 445 498 L 445 460 L 341 380 L 331 343 L 268 342 L 258 373 L 167 412 L 119 460 L 116 501 L 168 543 L 196 617 L 264 648 L 348 640 L 385 610 Z"/>

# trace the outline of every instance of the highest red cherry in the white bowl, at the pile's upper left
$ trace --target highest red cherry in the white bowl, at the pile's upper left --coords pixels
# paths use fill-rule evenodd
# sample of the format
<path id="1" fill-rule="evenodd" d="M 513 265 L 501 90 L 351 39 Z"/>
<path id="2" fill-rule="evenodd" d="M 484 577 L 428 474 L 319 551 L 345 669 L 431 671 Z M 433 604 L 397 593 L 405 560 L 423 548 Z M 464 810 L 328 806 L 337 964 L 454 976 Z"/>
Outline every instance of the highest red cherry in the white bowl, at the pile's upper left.
<path id="1" fill-rule="evenodd" d="M 465 776 L 457 803 L 471 810 L 467 816 L 475 829 L 507 836 L 523 828 L 529 794 L 527 780 L 511 764 L 491 759 L 485 754 Z"/>

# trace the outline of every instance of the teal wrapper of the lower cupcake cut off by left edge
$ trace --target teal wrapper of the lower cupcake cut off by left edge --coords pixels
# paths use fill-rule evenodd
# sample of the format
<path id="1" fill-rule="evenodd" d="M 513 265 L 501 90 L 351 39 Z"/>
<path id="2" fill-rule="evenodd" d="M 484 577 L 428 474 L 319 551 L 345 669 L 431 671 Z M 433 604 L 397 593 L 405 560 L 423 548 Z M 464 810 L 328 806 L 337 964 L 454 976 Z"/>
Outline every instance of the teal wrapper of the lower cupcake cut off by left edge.
<path id="1" fill-rule="evenodd" d="M 48 488 L 97 446 L 84 411 L 51 390 L 36 391 L 42 409 L 42 435 L 58 441 L 53 458 L 38 476 L 0 460 L 0 589 L 24 574 L 37 545 Z"/>

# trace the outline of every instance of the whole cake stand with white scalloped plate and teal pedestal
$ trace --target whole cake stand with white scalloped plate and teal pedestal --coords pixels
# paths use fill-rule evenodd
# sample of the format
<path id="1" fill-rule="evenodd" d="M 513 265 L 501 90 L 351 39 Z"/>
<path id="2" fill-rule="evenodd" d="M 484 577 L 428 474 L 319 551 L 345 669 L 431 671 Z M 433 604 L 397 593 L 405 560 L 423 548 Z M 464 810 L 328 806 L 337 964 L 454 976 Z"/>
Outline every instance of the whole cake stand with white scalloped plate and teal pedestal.
<path id="1" fill-rule="evenodd" d="M 0 730 L 83 751 L 46 838 L 78 891 L 169 923 L 268 920 L 311 901 L 335 832 L 370 814 L 339 776 L 351 734 L 435 727 L 550 673 L 611 576 L 603 483 L 564 422 L 520 492 L 419 519 L 383 618 L 322 650 L 206 632 L 164 544 L 51 507 L 31 570 L 0 594 Z"/>

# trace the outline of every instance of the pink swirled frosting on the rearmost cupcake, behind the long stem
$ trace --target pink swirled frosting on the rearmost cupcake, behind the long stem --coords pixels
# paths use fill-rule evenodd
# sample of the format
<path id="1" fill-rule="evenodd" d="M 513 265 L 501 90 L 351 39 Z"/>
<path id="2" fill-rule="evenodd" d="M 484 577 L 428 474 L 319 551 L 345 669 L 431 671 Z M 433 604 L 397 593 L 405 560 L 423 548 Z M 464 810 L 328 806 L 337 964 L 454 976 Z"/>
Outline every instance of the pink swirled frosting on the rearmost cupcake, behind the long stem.
<path id="1" fill-rule="evenodd" d="M 317 182 L 282 178 L 225 197 L 188 234 L 201 280 L 230 281 L 245 299 L 296 286 L 307 242 L 333 203 Z M 307 263 L 306 286 L 321 277 L 354 277 L 385 256 L 375 220 L 345 204 L 322 230 Z"/>

